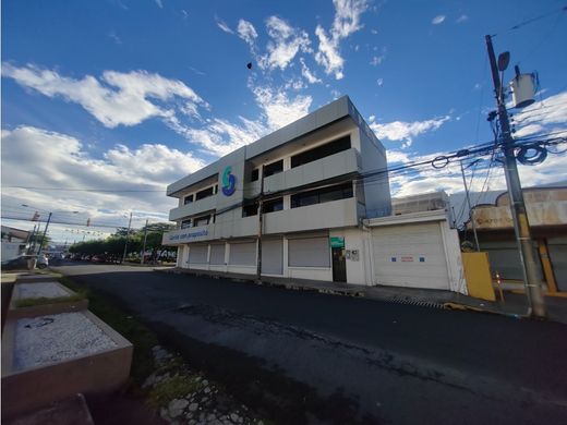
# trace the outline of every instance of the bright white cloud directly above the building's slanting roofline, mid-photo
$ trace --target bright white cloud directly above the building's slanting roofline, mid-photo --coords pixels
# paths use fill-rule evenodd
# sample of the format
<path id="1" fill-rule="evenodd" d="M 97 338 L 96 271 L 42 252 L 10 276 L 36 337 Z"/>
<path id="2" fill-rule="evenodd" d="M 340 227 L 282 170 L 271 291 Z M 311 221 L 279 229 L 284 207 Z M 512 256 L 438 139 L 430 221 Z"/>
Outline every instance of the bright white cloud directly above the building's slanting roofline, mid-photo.
<path id="1" fill-rule="evenodd" d="M 311 96 L 297 96 L 291 100 L 286 93 L 269 87 L 254 87 L 252 90 L 264 110 L 269 130 L 280 129 L 306 116 L 313 101 Z"/>

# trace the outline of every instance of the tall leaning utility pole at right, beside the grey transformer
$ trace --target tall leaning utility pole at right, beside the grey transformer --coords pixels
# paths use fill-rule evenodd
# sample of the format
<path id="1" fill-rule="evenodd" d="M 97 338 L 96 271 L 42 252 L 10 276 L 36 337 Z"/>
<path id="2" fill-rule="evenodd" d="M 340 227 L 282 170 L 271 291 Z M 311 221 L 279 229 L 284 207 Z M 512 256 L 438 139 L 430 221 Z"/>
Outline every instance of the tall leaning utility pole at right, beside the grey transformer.
<path id="1" fill-rule="evenodd" d="M 503 63 L 496 64 L 496 57 L 492 46 L 492 37 L 485 36 L 486 48 L 488 50 L 488 59 L 491 62 L 492 80 L 494 82 L 494 90 L 496 94 L 496 105 L 498 106 L 498 119 L 500 122 L 502 137 L 503 137 L 503 153 L 504 153 L 504 171 L 506 174 L 506 184 L 508 186 L 508 196 L 510 197 L 510 209 L 514 221 L 514 229 L 516 239 L 518 241 L 518 248 L 520 252 L 520 259 L 523 267 L 523 282 L 526 287 L 526 295 L 528 298 L 529 314 L 536 317 L 545 317 L 545 303 L 543 301 L 542 287 L 538 277 L 538 269 L 535 266 L 535 255 L 533 251 L 532 239 L 530 234 L 530 223 L 528 221 L 528 214 L 526 203 L 523 202 L 523 193 L 520 184 L 520 177 L 518 174 L 518 165 L 516 163 L 516 155 L 514 153 L 514 138 L 510 132 L 510 122 L 508 119 L 508 111 L 506 110 L 506 102 L 504 96 L 504 88 L 502 85 L 498 70 L 504 72 L 508 65 L 509 54 L 500 54 Z"/>

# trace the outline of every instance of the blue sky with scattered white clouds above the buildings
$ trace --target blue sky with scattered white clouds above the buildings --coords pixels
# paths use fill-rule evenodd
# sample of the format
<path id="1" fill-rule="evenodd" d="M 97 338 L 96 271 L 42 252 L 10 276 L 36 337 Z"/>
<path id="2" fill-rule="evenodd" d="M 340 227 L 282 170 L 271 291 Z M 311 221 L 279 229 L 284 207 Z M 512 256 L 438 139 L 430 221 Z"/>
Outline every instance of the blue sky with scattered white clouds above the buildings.
<path id="1" fill-rule="evenodd" d="M 2 223 L 52 212 L 57 241 L 167 221 L 166 186 L 348 95 L 390 166 L 494 139 L 484 36 L 536 72 L 517 136 L 566 130 L 565 1 L 16 1 L 1 3 Z M 248 63 L 252 66 L 249 69 Z M 511 107 L 511 105 L 510 105 Z M 476 191 L 505 187 L 488 160 Z M 483 166 L 484 165 L 484 166 Z M 567 180 L 567 156 L 520 167 Z M 457 166 L 390 177 L 393 196 L 462 191 Z M 23 206 L 25 205 L 25 206 Z M 19 220 L 13 220 L 17 218 Z M 91 226 L 87 227 L 87 219 Z"/>

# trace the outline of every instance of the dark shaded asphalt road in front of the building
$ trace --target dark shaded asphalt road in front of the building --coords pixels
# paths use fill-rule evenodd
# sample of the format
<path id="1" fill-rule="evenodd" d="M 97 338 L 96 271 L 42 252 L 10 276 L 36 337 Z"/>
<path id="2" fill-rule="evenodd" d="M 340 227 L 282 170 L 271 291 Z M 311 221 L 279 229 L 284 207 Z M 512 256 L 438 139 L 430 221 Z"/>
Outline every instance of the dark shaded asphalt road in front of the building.
<path id="1" fill-rule="evenodd" d="M 565 424 L 567 327 L 69 264 L 282 424 Z"/>

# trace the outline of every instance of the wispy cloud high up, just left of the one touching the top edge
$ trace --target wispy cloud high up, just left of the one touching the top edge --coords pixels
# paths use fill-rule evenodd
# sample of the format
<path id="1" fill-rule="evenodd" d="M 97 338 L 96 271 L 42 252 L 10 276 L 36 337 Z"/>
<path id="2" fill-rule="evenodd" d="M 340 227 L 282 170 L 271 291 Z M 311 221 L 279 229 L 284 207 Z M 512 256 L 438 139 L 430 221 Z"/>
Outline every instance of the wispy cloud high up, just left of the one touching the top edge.
<path id="1" fill-rule="evenodd" d="M 269 16 L 266 20 L 266 29 L 270 40 L 266 46 L 267 53 L 260 60 L 264 69 L 285 70 L 300 51 L 311 51 L 307 33 L 293 28 L 278 16 Z"/>

